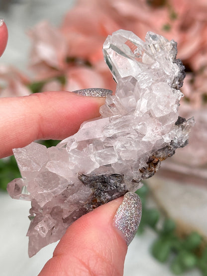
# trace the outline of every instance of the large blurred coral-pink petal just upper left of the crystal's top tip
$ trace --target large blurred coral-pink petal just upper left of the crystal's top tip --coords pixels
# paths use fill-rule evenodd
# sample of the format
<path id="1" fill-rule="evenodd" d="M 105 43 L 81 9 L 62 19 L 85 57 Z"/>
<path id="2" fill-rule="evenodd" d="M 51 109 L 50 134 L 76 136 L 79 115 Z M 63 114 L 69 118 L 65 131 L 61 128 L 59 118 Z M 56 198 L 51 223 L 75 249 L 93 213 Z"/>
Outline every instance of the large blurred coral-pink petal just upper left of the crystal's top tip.
<path id="1" fill-rule="evenodd" d="M 60 30 L 68 42 L 68 56 L 94 64 L 103 60 L 102 47 L 106 36 L 119 28 L 110 14 L 94 5 L 93 1 L 87 1 L 66 14 Z"/>

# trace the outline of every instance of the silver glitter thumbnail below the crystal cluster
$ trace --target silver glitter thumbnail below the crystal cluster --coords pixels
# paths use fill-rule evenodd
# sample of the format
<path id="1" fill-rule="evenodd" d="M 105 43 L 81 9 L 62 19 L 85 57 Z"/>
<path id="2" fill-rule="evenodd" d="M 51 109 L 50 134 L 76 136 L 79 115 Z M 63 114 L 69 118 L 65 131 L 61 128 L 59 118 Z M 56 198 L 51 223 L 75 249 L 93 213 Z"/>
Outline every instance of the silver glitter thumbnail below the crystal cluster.
<path id="1" fill-rule="evenodd" d="M 123 202 L 118 207 L 113 224 L 118 229 L 127 246 L 133 240 L 142 215 L 142 203 L 139 196 L 134 192 L 127 192 L 123 197 Z"/>

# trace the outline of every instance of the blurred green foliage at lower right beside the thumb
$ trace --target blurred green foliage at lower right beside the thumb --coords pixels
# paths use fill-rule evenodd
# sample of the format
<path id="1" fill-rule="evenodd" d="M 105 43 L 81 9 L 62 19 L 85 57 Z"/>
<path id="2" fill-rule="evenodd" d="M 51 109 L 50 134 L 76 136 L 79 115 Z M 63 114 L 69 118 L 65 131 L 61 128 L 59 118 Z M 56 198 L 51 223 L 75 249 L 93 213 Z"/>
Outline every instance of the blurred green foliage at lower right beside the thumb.
<path id="1" fill-rule="evenodd" d="M 175 275 L 197 268 L 203 276 L 207 276 L 207 246 L 201 255 L 199 249 L 204 242 L 201 235 L 192 232 L 185 238 L 176 233 L 176 223 L 170 218 L 165 218 L 160 223 L 160 213 L 155 208 L 146 206 L 148 188 L 144 185 L 136 191 L 142 204 L 142 218 L 137 234 L 142 234 L 146 227 L 157 233 L 157 239 L 152 244 L 151 253 L 159 262 L 170 262 L 170 270 Z M 158 223 L 159 222 L 159 223 Z M 159 224 L 159 227 L 158 227 Z M 172 260 L 172 261 L 170 261 Z"/>

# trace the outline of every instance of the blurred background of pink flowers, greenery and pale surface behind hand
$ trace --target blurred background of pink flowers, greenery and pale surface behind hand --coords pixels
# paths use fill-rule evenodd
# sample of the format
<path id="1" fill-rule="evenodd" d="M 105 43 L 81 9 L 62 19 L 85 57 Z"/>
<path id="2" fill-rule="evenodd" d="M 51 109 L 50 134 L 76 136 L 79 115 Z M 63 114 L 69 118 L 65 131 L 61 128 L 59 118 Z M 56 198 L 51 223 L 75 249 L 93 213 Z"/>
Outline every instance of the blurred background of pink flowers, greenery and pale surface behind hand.
<path id="1" fill-rule="evenodd" d="M 102 46 L 118 29 L 142 39 L 153 31 L 178 42 L 186 67 L 180 115 L 194 116 L 196 125 L 189 145 L 137 191 L 143 216 L 124 275 L 207 275 L 207 1 L 0 0 L 0 17 L 9 31 L 0 58 L 0 97 L 90 87 L 115 91 Z M 14 158 L 1 159 L 0 275 L 36 276 L 56 244 L 28 258 L 30 202 L 13 200 L 5 190 L 17 177 Z"/>

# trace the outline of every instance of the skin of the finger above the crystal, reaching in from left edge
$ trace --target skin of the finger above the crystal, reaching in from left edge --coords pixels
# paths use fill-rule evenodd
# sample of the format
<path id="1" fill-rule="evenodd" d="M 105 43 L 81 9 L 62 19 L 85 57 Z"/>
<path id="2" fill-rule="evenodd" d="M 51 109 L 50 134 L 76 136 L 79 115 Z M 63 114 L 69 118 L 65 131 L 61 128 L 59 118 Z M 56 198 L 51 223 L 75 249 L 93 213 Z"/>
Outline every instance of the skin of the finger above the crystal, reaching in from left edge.
<path id="1" fill-rule="evenodd" d="M 103 97 L 73 92 L 43 92 L 24 97 L 0 99 L 0 158 L 12 148 L 24 147 L 38 139 L 64 139 L 78 131 L 80 124 L 100 116 Z"/>

